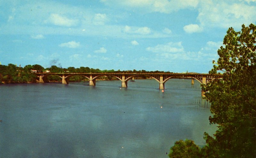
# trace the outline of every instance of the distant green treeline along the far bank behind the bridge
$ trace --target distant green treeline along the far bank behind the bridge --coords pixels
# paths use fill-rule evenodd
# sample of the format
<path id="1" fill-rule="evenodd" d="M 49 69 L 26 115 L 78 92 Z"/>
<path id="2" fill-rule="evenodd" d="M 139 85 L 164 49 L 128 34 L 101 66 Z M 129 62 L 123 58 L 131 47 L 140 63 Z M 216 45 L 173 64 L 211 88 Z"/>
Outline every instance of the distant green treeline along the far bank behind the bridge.
<path id="1" fill-rule="evenodd" d="M 127 71 L 115 71 L 115 70 L 100 70 L 100 69 L 93 69 L 89 67 L 75 68 L 75 67 L 68 67 L 68 68 L 61 68 L 56 65 L 52 65 L 51 67 L 44 68 L 41 65 L 26 65 L 24 67 L 17 66 L 14 64 L 8 65 L 0 65 L 0 83 L 35 83 L 36 82 L 36 74 L 32 73 L 31 70 L 36 70 L 37 72 L 45 72 L 50 71 L 53 73 L 163 73 L 164 71 L 145 71 L 145 70 L 127 70 Z M 165 72 L 166 73 L 166 72 Z M 168 73 L 168 72 L 167 72 Z M 169 72 L 171 73 L 171 72 Z M 115 77 L 107 76 L 101 77 L 100 79 L 103 80 L 114 80 Z M 70 77 L 69 81 L 83 81 L 86 80 L 83 76 L 72 76 Z M 46 82 L 54 82 L 60 81 L 59 76 L 50 75 L 47 76 L 45 79 Z"/>

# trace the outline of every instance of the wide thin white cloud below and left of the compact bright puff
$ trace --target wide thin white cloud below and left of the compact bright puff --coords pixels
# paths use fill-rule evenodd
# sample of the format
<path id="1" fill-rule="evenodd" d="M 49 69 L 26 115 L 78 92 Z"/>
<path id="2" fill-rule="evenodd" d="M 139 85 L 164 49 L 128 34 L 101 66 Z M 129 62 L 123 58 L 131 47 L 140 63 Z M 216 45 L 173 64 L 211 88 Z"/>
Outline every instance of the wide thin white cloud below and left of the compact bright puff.
<path id="1" fill-rule="evenodd" d="M 184 48 L 180 42 L 169 42 L 167 44 L 158 44 L 155 47 L 148 47 L 146 50 L 155 52 L 155 53 L 177 53 L 177 52 L 184 52 Z"/>

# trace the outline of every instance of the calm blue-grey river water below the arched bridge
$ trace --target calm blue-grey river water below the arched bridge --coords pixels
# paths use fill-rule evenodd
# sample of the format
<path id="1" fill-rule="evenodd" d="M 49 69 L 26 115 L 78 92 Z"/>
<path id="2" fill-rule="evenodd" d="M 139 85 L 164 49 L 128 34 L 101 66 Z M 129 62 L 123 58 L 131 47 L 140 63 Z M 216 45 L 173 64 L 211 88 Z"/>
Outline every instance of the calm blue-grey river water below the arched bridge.
<path id="1" fill-rule="evenodd" d="M 167 158 L 180 139 L 205 144 L 200 84 L 154 79 L 0 85 L 0 158 Z M 167 154 L 166 154 L 167 153 Z"/>

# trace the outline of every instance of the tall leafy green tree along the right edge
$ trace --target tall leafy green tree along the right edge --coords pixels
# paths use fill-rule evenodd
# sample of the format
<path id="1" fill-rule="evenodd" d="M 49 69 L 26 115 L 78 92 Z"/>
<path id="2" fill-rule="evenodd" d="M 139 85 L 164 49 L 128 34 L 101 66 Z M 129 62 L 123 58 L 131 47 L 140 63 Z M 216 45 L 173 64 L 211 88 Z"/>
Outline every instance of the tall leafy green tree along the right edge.
<path id="1" fill-rule="evenodd" d="M 218 50 L 218 62 L 210 73 L 223 72 L 222 80 L 203 86 L 211 102 L 211 124 L 218 124 L 214 137 L 205 133 L 202 157 L 256 157 L 256 26 L 232 27 Z M 171 157 L 171 156 L 170 156 Z M 196 157 L 196 156 L 195 156 Z"/>

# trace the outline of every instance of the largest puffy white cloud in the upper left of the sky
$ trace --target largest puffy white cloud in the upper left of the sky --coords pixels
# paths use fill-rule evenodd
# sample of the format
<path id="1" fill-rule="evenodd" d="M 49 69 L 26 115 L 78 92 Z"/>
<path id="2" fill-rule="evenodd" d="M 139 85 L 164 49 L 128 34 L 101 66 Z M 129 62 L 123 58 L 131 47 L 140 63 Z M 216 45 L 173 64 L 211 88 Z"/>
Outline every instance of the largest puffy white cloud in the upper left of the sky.
<path id="1" fill-rule="evenodd" d="M 58 26 L 76 26 L 78 20 L 76 19 L 68 19 L 67 17 L 60 16 L 59 14 L 51 14 L 47 22 L 50 22 L 54 25 Z"/>

